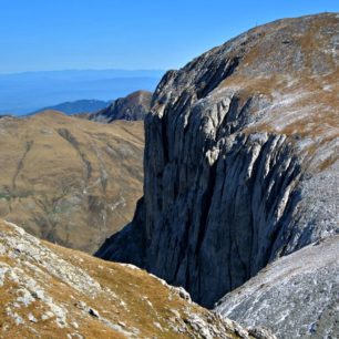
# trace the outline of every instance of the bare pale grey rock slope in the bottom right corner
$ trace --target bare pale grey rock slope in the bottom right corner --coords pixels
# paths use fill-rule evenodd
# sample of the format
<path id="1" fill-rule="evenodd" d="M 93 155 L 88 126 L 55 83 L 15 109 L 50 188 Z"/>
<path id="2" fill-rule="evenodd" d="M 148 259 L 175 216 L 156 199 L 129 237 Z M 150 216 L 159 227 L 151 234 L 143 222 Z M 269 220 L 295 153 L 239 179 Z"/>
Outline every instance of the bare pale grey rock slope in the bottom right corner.
<path id="1" fill-rule="evenodd" d="M 278 338 L 337 338 L 339 236 L 273 263 L 226 295 L 216 310 L 245 326 L 265 323 Z"/>

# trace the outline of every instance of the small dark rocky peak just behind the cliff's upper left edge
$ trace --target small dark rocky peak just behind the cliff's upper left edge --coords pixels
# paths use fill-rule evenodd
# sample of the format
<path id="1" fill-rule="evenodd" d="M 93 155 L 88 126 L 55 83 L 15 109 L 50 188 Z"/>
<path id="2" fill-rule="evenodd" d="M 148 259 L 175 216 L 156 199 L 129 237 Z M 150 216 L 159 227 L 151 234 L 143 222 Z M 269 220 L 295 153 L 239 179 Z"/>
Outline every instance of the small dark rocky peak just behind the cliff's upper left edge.
<path id="1" fill-rule="evenodd" d="M 125 97 L 114 100 L 111 105 L 99 112 L 90 114 L 89 120 L 107 124 L 115 120 L 144 120 L 151 110 L 151 92 L 136 91 Z"/>

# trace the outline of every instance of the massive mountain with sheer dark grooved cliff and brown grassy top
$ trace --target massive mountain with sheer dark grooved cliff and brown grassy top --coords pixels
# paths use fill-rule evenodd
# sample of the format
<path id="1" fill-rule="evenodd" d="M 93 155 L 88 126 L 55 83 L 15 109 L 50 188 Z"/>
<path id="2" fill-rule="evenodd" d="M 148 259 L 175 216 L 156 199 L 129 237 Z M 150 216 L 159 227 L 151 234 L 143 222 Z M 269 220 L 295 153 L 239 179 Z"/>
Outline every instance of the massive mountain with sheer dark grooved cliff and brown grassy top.
<path id="1" fill-rule="evenodd" d="M 338 233 L 339 16 L 255 28 L 170 71 L 145 121 L 144 197 L 97 256 L 212 307 Z"/>

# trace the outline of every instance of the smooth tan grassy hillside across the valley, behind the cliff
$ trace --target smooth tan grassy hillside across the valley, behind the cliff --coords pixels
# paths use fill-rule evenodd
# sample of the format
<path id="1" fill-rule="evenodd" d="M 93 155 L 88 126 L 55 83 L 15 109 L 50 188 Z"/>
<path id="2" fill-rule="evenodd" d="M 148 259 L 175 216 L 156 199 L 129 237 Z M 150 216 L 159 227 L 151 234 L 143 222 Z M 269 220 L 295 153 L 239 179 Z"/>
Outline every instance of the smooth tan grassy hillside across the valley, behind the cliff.
<path id="1" fill-rule="evenodd" d="M 48 111 L 0 120 L 0 217 L 93 253 L 142 195 L 142 122 L 110 125 Z"/>

